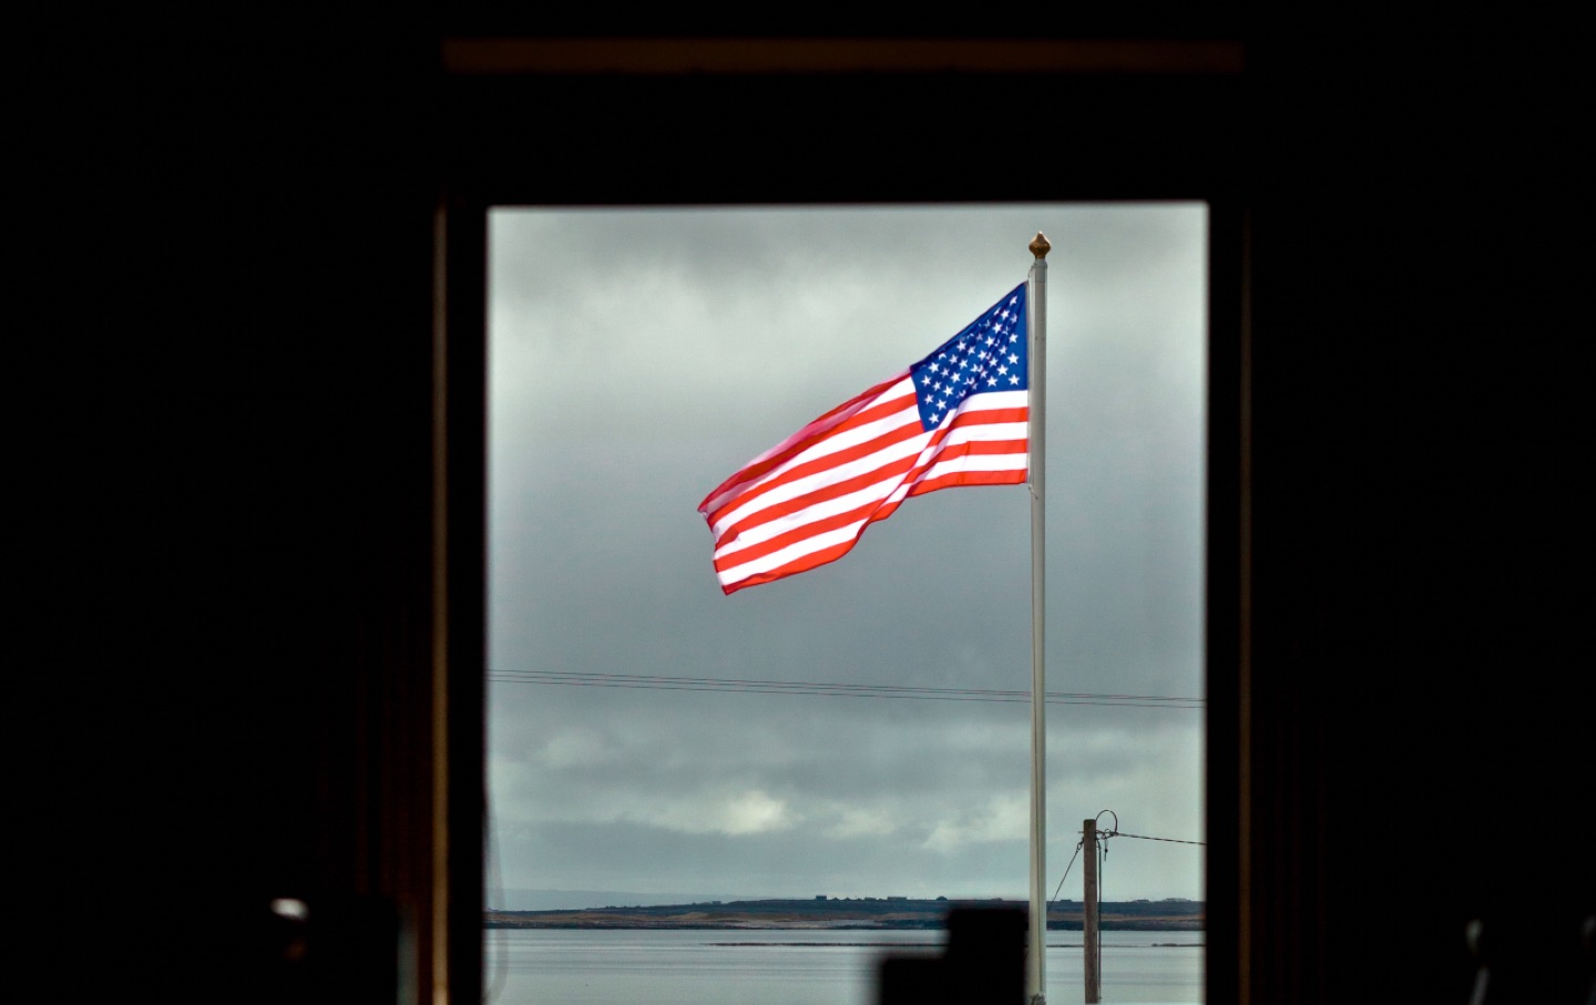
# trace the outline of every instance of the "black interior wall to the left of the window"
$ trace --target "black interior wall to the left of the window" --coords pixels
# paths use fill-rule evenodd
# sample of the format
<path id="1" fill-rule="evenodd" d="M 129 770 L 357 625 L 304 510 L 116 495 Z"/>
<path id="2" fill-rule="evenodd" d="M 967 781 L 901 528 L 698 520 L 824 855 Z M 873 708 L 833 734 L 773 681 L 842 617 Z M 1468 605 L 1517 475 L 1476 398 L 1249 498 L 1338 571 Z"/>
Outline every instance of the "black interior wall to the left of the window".
<path id="1" fill-rule="evenodd" d="M 85 995 L 394 1000 L 433 909 L 436 38 L 34 41 L 21 962 Z"/>

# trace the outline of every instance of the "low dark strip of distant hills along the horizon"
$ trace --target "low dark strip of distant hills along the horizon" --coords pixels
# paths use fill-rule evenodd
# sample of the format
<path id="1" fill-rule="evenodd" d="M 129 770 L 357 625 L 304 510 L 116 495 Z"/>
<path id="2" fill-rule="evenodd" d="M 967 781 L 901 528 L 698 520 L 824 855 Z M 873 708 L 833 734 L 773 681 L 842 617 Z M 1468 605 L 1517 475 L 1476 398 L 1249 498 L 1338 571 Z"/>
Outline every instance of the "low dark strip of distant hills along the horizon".
<path id="1" fill-rule="evenodd" d="M 731 900 L 689 905 L 637 905 L 547 911 L 488 909 L 488 928 L 942 928 L 951 908 L 1007 905 L 1025 908 L 1023 900 L 911 900 L 908 897 L 814 897 L 809 900 Z M 1055 900 L 1047 905 L 1047 927 L 1079 932 L 1084 924 L 1080 901 Z M 1103 901 L 1100 924 L 1104 932 L 1200 932 L 1200 900 Z"/>

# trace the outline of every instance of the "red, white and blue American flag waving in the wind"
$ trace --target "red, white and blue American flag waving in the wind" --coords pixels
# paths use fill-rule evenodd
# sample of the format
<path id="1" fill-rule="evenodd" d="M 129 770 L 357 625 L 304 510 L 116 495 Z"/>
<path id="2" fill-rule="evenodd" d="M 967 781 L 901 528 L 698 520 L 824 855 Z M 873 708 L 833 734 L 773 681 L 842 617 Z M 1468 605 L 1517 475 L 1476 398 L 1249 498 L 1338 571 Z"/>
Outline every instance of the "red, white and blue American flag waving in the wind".
<path id="1" fill-rule="evenodd" d="M 908 496 L 1026 479 L 1029 372 L 1021 282 L 907 370 L 744 464 L 699 512 L 726 593 L 847 554 Z"/>

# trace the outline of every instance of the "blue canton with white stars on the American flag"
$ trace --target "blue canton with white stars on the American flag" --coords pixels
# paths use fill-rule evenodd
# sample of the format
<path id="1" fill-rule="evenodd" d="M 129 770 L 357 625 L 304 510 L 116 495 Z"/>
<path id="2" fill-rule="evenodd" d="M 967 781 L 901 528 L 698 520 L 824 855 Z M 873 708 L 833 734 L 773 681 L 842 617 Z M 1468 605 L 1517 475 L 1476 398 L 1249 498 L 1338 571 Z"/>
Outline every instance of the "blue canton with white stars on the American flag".
<path id="1" fill-rule="evenodd" d="M 1026 340 L 1021 282 L 962 332 L 908 368 L 915 378 L 921 429 L 935 429 L 972 394 L 1025 391 L 1029 386 Z"/>

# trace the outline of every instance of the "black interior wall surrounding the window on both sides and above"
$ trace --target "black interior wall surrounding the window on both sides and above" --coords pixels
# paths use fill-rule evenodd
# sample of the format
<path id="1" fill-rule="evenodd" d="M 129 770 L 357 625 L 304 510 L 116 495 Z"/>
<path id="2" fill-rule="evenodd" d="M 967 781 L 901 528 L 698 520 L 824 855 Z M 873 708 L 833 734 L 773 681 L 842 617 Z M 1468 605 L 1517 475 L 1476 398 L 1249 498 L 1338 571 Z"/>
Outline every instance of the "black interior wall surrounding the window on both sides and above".
<path id="1" fill-rule="evenodd" d="M 1479 916 L 1513 951 L 1502 981 L 1580 979 L 1572 927 L 1596 909 L 1578 812 L 1596 705 L 1575 648 L 1593 609 L 1575 354 L 1590 255 L 1567 238 L 1590 198 L 1559 38 L 1253 35 L 1245 75 L 1219 81 L 760 83 L 806 129 L 895 142 L 844 172 L 824 144 L 752 124 L 736 160 L 674 144 L 638 163 L 594 116 L 707 142 L 720 81 L 460 83 L 431 29 L 295 27 L 53 48 L 34 77 L 49 110 L 21 187 L 19 341 L 53 380 L 16 399 L 38 501 L 18 563 L 38 670 L 16 763 L 41 941 L 94 905 L 124 925 L 136 983 L 380 1000 L 372 960 L 393 925 L 429 916 L 440 190 L 469 204 L 980 185 L 1213 195 L 1245 249 L 1246 298 L 1216 317 L 1245 322 L 1232 349 L 1250 378 L 1216 388 L 1250 394 L 1235 421 L 1251 439 L 1216 471 L 1250 488 L 1216 493 L 1251 523 L 1216 541 L 1250 542 L 1231 584 L 1250 605 L 1211 597 L 1245 625 L 1211 675 L 1245 710 L 1215 723 L 1246 743 L 1215 737 L 1210 836 L 1246 861 L 1211 847 L 1208 893 L 1242 925 L 1245 979 L 1215 954 L 1211 1000 L 1248 986 L 1253 1002 L 1329 1002 L 1371 983 L 1462 1000 L 1462 925 Z M 1049 131 L 1052 175 L 972 177 L 921 145 L 929 108 L 1023 113 L 1013 83 L 1073 110 Z M 591 160 L 538 160 L 539 129 L 509 144 L 471 120 L 495 102 L 579 132 Z M 650 102 L 675 113 L 640 115 Z M 1160 129 L 1187 140 L 1183 160 Z M 469 407 L 469 483 L 461 423 Z M 456 600 L 450 641 L 471 665 L 480 611 Z M 455 739 L 469 755 L 469 727 Z M 455 804 L 458 833 L 474 798 Z M 469 850 L 456 866 L 471 874 Z M 318 940 L 318 970 L 282 962 L 259 909 L 284 893 L 350 919 Z"/>

